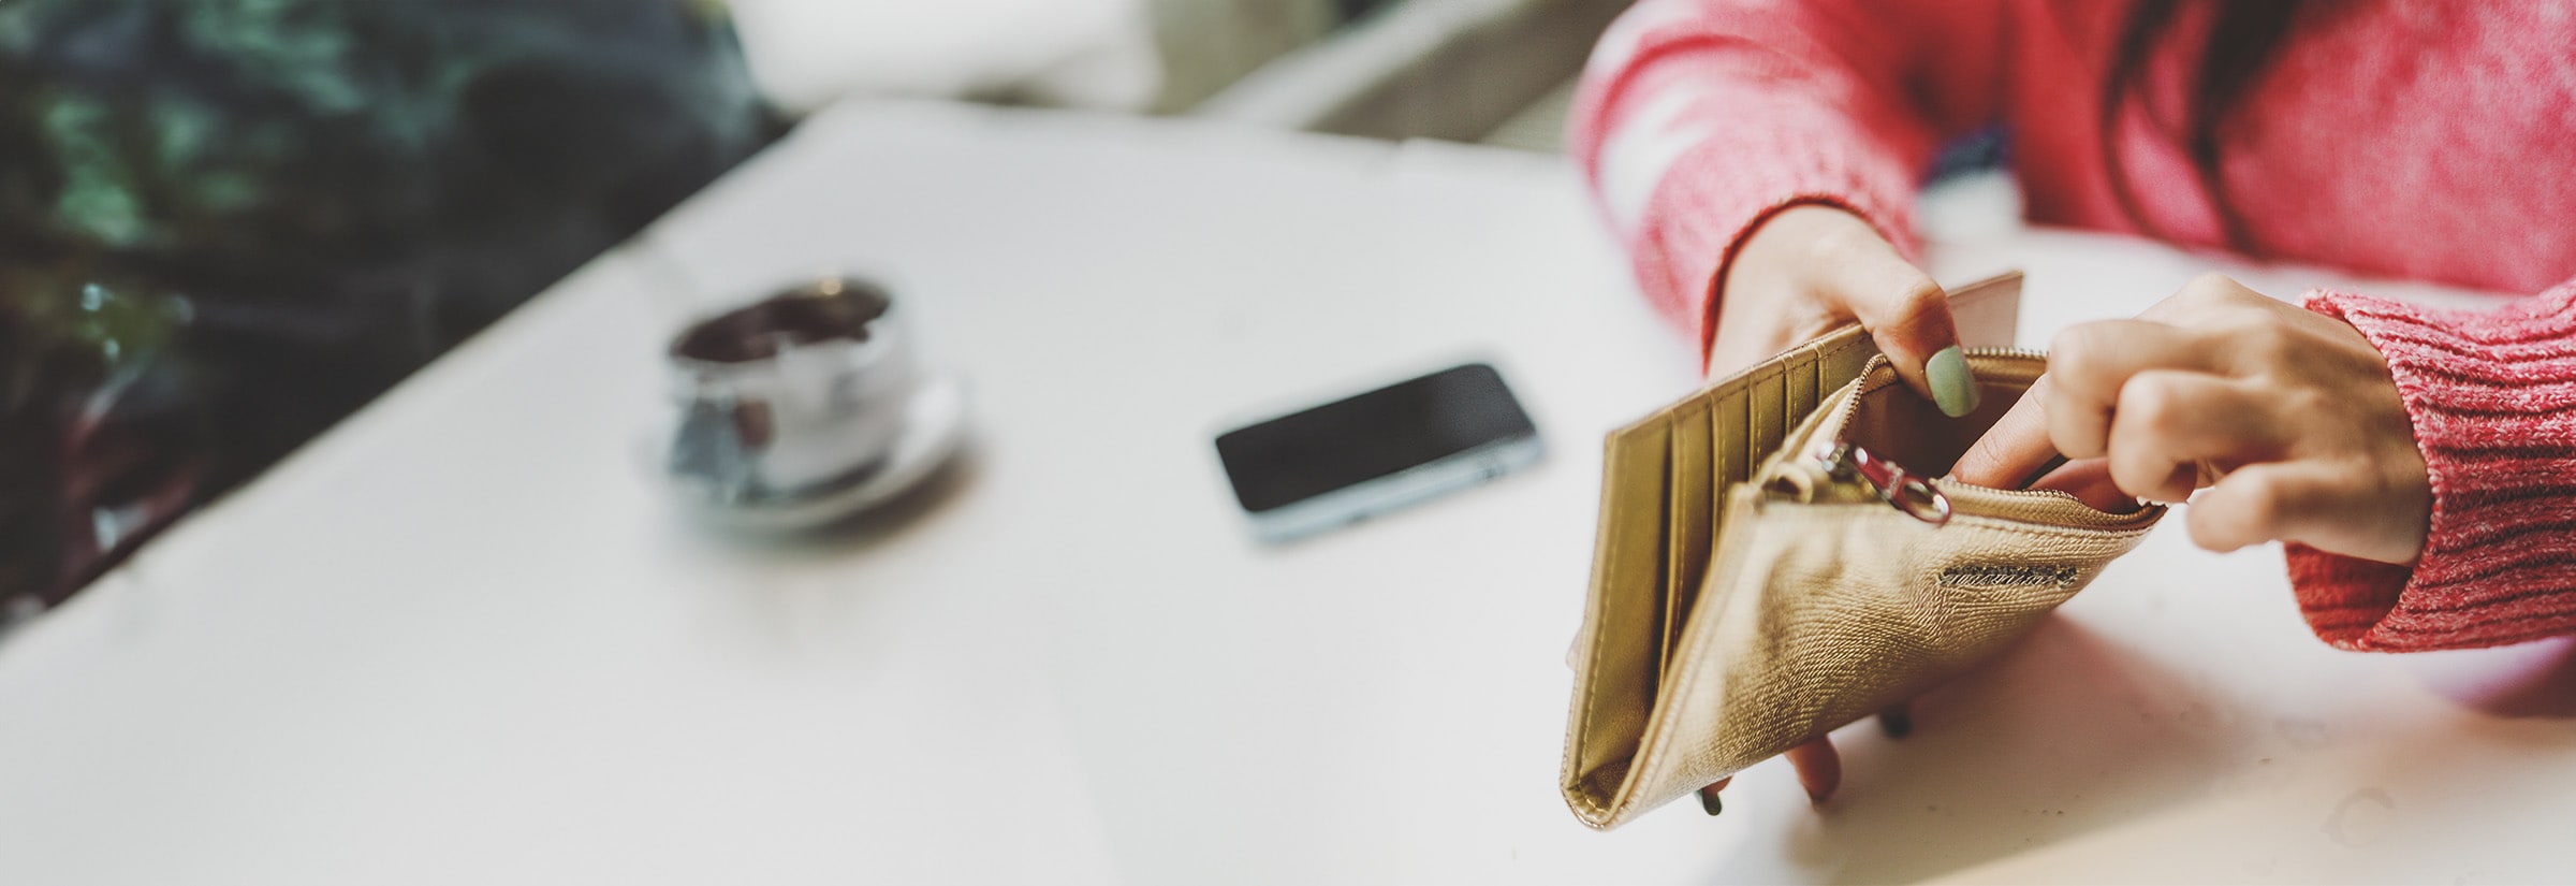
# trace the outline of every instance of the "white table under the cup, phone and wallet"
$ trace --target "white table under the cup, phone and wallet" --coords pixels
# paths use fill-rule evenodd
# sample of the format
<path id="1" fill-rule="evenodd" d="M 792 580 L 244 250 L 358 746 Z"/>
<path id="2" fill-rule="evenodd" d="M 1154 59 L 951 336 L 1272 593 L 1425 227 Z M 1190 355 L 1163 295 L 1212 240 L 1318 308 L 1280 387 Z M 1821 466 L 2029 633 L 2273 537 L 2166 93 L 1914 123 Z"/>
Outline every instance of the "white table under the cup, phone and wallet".
<path id="1" fill-rule="evenodd" d="M 1935 263 L 2027 268 L 2027 343 L 2208 265 Z M 855 538 L 703 533 L 639 453 L 657 345 L 822 268 L 909 299 L 974 458 Z M 1461 355 L 1546 466 L 1247 541 L 1211 430 Z M 1767 762 L 1582 829 L 1597 438 L 1692 384 L 1556 160 L 837 108 L 0 641 L 0 881 L 2566 878 L 2566 641 L 2334 652 L 2179 523 L 1914 739 L 1847 729 L 1829 806 Z"/>

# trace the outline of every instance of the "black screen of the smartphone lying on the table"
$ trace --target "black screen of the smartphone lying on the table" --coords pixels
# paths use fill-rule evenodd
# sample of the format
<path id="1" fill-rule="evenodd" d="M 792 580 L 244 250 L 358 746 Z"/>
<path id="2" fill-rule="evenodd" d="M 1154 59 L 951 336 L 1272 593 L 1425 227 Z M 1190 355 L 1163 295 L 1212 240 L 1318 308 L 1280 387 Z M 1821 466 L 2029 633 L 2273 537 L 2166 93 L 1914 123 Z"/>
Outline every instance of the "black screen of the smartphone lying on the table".
<path id="1" fill-rule="evenodd" d="M 1502 373 L 1466 363 L 1216 438 L 1249 513 L 1432 464 L 1538 428 Z"/>

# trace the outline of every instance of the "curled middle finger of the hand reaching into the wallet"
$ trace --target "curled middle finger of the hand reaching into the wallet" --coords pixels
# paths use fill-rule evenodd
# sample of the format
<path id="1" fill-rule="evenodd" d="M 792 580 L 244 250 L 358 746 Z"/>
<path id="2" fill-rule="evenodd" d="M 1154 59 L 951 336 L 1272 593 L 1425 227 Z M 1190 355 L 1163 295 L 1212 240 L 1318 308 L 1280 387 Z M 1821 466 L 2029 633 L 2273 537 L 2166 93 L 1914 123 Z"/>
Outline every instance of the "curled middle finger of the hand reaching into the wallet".
<path id="1" fill-rule="evenodd" d="M 2120 386 L 2110 476 L 2128 495 L 2182 502 L 2200 489 L 2202 464 L 2264 461 L 2272 440 L 2269 407 L 2236 381 L 2148 368 Z"/>

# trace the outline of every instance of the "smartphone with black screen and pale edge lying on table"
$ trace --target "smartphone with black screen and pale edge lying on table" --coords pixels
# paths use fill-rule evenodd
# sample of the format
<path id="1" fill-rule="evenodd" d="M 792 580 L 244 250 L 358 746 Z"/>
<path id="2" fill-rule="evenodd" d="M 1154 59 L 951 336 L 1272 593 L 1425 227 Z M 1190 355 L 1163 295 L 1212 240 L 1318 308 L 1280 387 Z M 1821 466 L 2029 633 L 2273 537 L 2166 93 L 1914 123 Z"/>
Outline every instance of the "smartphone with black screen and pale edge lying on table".
<path id="1" fill-rule="evenodd" d="M 1216 438 L 1262 541 L 1296 541 L 1538 464 L 1543 446 L 1489 363 L 1466 363 Z"/>

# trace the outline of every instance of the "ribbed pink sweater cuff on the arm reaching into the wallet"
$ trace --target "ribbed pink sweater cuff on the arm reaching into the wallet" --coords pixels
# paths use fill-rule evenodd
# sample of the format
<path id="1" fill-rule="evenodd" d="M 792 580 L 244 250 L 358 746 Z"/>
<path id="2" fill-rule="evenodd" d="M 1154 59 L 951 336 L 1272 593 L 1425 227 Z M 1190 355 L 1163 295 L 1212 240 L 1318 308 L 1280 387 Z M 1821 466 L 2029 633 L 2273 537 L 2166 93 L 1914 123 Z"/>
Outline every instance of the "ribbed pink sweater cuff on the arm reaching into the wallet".
<path id="1" fill-rule="evenodd" d="M 2388 355 L 2432 471 L 2414 567 L 2290 546 L 2316 636 L 2396 652 L 2576 634 L 2576 281 L 2494 314 L 2334 291 L 2308 309 Z"/>

